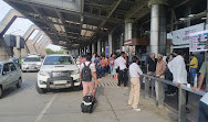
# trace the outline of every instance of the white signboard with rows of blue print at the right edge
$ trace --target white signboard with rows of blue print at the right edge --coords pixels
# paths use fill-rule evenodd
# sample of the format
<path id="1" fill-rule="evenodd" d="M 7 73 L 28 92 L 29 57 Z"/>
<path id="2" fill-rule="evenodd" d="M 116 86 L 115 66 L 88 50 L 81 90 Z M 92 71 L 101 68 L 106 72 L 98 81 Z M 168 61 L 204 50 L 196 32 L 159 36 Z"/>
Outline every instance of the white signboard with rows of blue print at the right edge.
<path id="1" fill-rule="evenodd" d="M 208 51 L 208 30 L 189 35 L 189 52 Z"/>

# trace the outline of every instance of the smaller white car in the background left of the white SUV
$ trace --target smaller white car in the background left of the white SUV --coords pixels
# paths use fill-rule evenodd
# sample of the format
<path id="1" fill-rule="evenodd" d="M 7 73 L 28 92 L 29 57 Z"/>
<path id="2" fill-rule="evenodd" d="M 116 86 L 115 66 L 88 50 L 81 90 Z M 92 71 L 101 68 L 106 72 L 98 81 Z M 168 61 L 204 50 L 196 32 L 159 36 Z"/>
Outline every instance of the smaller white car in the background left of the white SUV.
<path id="1" fill-rule="evenodd" d="M 22 62 L 22 71 L 39 71 L 42 60 L 38 55 L 30 55 Z"/>

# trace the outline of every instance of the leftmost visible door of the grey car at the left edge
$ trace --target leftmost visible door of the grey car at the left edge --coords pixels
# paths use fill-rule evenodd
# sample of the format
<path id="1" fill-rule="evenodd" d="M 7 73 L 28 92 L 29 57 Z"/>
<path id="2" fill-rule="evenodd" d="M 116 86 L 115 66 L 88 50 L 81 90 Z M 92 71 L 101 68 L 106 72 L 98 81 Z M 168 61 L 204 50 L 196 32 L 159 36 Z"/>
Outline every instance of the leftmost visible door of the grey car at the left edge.
<path id="1" fill-rule="evenodd" d="M 8 88 L 10 86 L 10 80 L 11 80 L 11 74 L 10 74 L 9 64 L 4 64 L 3 69 L 2 69 L 2 86 L 3 86 L 3 88 Z"/>

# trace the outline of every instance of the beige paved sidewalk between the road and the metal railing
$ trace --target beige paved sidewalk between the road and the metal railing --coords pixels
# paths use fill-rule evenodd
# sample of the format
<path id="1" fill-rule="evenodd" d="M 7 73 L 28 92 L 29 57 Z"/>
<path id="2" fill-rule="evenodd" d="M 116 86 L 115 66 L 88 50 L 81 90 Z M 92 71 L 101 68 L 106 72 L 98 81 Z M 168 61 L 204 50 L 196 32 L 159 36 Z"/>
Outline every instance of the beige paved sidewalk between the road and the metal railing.
<path id="1" fill-rule="evenodd" d="M 100 84 L 116 82 L 111 77 L 102 78 L 98 81 Z M 111 111 L 113 112 L 115 119 L 110 122 L 170 122 L 167 117 L 168 111 L 166 109 L 156 108 L 152 99 L 144 99 L 142 95 L 139 101 L 139 108 L 142 111 L 133 111 L 131 107 L 127 106 L 128 93 L 129 89 L 114 86 L 114 84 L 113 86 L 98 87 L 98 106 L 95 109 L 94 114 L 101 111 Z M 107 114 L 103 115 L 107 117 Z"/>

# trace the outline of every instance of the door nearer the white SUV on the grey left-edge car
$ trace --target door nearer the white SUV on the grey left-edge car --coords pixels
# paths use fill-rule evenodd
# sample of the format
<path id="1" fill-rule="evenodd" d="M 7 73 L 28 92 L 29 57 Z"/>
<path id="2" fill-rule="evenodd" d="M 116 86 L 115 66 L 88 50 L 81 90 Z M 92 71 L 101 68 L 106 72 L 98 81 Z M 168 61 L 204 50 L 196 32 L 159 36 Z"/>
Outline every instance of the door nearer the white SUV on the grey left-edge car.
<path id="1" fill-rule="evenodd" d="M 19 79 L 19 74 L 18 74 L 18 69 L 15 67 L 15 65 L 13 63 L 9 63 L 9 67 L 10 67 L 10 70 L 11 70 L 11 84 L 15 84 Z"/>

